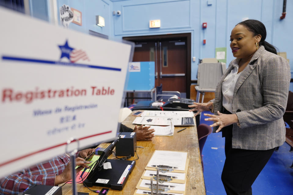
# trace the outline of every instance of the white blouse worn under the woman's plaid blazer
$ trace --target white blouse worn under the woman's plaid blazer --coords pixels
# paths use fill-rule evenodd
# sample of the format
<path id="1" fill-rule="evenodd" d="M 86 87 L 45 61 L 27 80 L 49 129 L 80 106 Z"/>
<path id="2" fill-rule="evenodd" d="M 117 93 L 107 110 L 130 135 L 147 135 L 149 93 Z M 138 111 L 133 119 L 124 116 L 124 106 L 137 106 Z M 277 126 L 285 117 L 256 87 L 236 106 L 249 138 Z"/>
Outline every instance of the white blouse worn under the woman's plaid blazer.
<path id="1" fill-rule="evenodd" d="M 236 60 L 236 63 L 239 63 L 239 60 Z M 222 83 L 222 94 L 223 94 L 223 106 L 228 110 L 229 112 L 233 113 L 232 110 L 232 100 L 233 100 L 233 92 L 235 88 L 236 81 L 238 77 L 240 76 L 241 72 L 238 73 L 238 64 L 232 64 L 234 68 L 231 70 L 231 72 L 226 76 L 226 78 L 223 80 Z"/>

